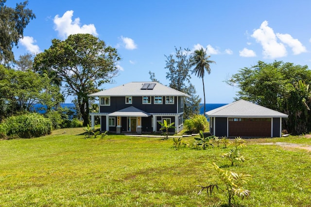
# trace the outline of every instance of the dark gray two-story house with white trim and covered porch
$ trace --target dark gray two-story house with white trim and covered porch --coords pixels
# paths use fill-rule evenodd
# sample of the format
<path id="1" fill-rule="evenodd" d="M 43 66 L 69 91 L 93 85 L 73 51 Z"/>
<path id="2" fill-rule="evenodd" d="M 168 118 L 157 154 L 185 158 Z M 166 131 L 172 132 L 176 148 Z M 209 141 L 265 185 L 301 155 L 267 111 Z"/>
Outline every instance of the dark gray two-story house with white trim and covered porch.
<path id="1" fill-rule="evenodd" d="M 166 120 L 175 123 L 175 132 L 183 128 L 184 98 L 189 95 L 158 82 L 130 82 L 89 96 L 99 97 L 98 113 L 101 131 L 160 132 L 160 124 Z"/>

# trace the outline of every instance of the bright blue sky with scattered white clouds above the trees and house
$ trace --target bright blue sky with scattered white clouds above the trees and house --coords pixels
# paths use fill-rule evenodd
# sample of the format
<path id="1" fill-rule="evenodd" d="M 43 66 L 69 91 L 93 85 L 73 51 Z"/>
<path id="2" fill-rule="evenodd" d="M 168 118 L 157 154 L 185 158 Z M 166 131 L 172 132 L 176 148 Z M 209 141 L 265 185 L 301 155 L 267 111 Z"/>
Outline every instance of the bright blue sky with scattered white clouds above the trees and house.
<path id="1" fill-rule="evenodd" d="M 115 84 L 105 89 L 150 81 L 149 71 L 168 85 L 164 55 L 174 47 L 207 48 L 216 62 L 205 76 L 207 103 L 232 102 L 237 89 L 224 80 L 259 60 L 311 66 L 309 0 L 29 0 L 28 8 L 36 18 L 14 48 L 16 59 L 48 49 L 54 38 L 91 33 L 122 58 Z M 203 98 L 202 80 L 192 75 L 191 82 Z"/>

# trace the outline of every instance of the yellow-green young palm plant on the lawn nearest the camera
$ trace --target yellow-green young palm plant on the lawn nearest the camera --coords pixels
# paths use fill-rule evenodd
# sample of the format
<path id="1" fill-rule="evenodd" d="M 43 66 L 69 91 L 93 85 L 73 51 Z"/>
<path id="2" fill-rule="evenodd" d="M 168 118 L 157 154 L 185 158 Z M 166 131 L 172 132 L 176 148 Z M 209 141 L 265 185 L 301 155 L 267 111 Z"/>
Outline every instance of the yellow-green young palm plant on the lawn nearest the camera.
<path id="1" fill-rule="evenodd" d="M 197 185 L 198 187 L 201 187 L 201 190 L 198 192 L 198 194 L 201 194 L 205 189 L 207 190 L 207 193 L 209 190 L 211 194 L 216 187 L 217 190 L 220 189 L 225 193 L 225 197 L 227 198 L 229 207 L 231 207 L 231 201 L 234 199 L 234 196 L 244 198 L 250 195 L 250 191 L 244 189 L 243 185 L 247 184 L 251 175 L 228 172 L 219 168 L 215 163 L 207 163 L 207 168 L 212 169 L 214 170 L 214 172 L 216 172 L 219 178 L 218 182 L 210 184 L 208 186 Z"/>

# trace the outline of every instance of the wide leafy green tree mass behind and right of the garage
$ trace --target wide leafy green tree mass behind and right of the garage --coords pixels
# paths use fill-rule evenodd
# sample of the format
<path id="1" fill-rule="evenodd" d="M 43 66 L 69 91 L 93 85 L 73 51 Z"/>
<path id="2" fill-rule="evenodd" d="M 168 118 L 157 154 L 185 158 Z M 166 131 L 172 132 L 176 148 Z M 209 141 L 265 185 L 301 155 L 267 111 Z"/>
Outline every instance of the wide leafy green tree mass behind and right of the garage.
<path id="1" fill-rule="evenodd" d="M 289 115 L 283 127 L 292 134 L 311 131 L 311 71 L 308 66 L 259 61 L 244 67 L 226 82 L 239 87 L 236 100 L 244 99 Z"/>

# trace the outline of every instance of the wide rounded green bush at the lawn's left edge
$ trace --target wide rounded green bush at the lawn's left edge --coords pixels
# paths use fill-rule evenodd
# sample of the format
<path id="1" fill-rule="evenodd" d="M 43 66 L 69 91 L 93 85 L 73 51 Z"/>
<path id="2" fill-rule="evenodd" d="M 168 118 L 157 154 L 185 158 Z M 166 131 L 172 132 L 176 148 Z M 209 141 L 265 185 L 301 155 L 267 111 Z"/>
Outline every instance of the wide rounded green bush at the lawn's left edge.
<path id="1" fill-rule="evenodd" d="M 38 113 L 11 116 L 1 124 L 1 128 L 2 125 L 6 126 L 7 136 L 20 138 L 40 137 L 52 132 L 52 121 Z"/>

